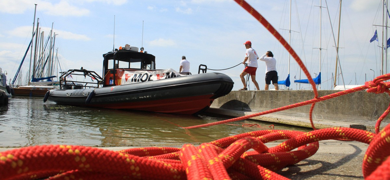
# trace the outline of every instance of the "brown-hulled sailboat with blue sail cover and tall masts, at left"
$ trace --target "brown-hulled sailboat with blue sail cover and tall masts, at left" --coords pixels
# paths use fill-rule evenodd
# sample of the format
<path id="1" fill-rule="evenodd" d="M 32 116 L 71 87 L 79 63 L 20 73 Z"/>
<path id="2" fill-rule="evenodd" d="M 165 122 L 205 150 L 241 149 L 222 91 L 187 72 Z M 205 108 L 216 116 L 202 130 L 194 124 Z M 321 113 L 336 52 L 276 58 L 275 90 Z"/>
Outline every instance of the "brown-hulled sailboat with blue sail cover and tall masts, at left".
<path id="1" fill-rule="evenodd" d="M 37 9 L 37 4 L 35 7 L 35 10 Z M 39 18 L 37 20 L 37 28 L 35 29 L 35 18 L 36 18 L 36 12 L 34 13 L 34 23 L 33 23 L 33 34 L 32 38 L 30 41 L 30 44 L 26 50 L 26 53 L 23 56 L 23 59 L 20 63 L 19 69 L 12 81 L 12 90 L 11 92 L 13 95 L 23 95 L 23 96 L 44 96 L 45 93 L 48 90 L 55 89 L 55 84 L 58 82 L 55 82 L 52 80 L 52 78 L 56 77 L 52 75 L 53 73 L 53 56 L 54 56 L 54 43 L 55 43 L 55 37 L 56 34 L 54 33 L 53 36 L 53 25 L 52 25 L 52 30 L 50 31 L 50 36 L 47 38 L 47 40 L 44 42 L 43 39 L 43 33 L 40 33 L 40 38 L 39 36 Z M 34 37 L 35 37 L 35 50 L 34 50 L 34 58 L 33 58 L 33 42 L 34 42 Z M 50 43 L 49 43 L 50 40 Z M 40 41 L 40 44 L 38 44 L 38 41 Z M 31 47 L 31 50 L 30 50 Z M 37 49 L 39 47 L 40 53 L 37 53 Z M 28 84 L 27 86 L 16 86 L 16 80 L 20 79 L 18 78 L 18 75 L 20 73 L 22 64 L 24 62 L 24 59 L 26 55 L 28 54 L 30 50 L 30 68 L 29 68 L 29 76 L 28 76 Z M 57 55 L 56 55 L 56 60 L 57 60 Z M 46 70 L 46 75 L 48 77 L 43 77 L 45 74 Z"/>

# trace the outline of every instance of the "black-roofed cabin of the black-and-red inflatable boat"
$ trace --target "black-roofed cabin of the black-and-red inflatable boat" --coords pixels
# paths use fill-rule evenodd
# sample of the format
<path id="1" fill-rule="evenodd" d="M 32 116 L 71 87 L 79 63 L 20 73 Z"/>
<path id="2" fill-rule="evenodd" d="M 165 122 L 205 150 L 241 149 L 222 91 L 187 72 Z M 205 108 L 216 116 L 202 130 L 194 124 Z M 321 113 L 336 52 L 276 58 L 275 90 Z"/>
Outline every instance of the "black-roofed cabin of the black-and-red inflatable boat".
<path id="1" fill-rule="evenodd" d="M 126 44 L 119 50 L 103 54 L 103 79 L 104 87 L 120 85 L 120 79 L 125 71 L 156 70 L 156 57 L 143 52 L 138 52 L 137 47 Z"/>

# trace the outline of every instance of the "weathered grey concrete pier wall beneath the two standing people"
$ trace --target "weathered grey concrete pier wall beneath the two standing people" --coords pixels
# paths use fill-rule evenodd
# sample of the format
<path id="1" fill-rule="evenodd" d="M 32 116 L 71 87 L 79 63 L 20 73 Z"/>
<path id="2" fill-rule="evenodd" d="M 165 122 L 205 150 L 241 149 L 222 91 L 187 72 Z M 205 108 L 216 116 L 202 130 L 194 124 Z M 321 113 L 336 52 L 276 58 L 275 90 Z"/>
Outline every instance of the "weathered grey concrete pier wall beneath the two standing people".
<path id="1" fill-rule="evenodd" d="M 318 96 L 325 96 L 339 90 L 318 90 Z M 247 90 L 231 91 L 228 95 L 215 99 L 207 112 L 230 116 L 243 116 L 281 108 L 314 98 L 312 90 Z M 377 119 L 387 109 L 390 97 L 387 93 L 375 94 L 357 91 L 315 104 L 313 120 L 317 128 L 331 126 L 365 126 L 372 129 Z M 251 119 L 311 127 L 309 111 L 311 105 L 292 108 L 262 115 Z M 381 127 L 390 122 L 386 117 Z"/>

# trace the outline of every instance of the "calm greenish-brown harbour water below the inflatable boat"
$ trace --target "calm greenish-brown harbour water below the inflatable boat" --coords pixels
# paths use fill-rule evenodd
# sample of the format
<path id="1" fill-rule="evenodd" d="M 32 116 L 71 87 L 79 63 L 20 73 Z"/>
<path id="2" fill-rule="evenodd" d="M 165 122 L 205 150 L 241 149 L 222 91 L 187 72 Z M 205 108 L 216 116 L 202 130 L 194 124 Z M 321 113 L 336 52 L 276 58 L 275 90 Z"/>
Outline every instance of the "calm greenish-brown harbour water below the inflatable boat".
<path id="1" fill-rule="evenodd" d="M 84 146 L 181 146 L 200 144 L 240 133 L 271 129 L 272 124 L 238 121 L 195 129 L 195 126 L 229 119 L 198 116 L 61 106 L 43 98 L 12 97 L 0 107 L 0 147 L 42 144 Z M 258 124 L 245 127 L 243 123 Z M 310 129 L 274 125 L 275 129 Z"/>

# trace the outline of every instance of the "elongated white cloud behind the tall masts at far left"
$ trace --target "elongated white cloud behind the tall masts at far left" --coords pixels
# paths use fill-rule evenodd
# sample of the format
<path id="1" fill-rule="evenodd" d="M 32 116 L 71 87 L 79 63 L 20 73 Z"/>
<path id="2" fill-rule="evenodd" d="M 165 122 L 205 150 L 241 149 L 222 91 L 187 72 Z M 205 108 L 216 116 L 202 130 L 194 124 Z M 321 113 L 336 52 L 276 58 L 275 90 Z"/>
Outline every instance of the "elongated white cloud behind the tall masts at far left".
<path id="1" fill-rule="evenodd" d="M 48 36 L 50 33 L 50 30 L 51 30 L 51 28 L 41 27 L 40 32 L 44 31 L 45 36 Z M 9 31 L 8 34 L 11 36 L 26 37 L 26 35 L 31 34 L 31 31 L 32 31 L 32 29 L 30 26 L 21 26 L 21 27 L 18 27 L 16 29 L 13 29 L 12 31 Z M 53 32 L 56 34 L 59 34 L 59 36 L 57 36 L 57 37 L 62 38 L 62 39 L 73 39 L 73 40 L 83 40 L 83 41 L 91 40 L 89 37 L 87 37 L 85 35 L 78 35 L 78 34 L 74 34 L 74 33 L 67 32 L 67 31 L 53 29 Z"/>

